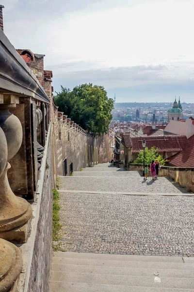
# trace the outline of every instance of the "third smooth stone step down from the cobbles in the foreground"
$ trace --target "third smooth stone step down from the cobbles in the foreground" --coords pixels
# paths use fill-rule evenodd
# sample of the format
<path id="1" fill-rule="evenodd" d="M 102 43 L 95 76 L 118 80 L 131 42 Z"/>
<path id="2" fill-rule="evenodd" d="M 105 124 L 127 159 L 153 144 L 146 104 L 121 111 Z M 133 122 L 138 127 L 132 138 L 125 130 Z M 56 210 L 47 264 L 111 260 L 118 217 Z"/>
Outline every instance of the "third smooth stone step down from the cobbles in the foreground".
<path id="1" fill-rule="evenodd" d="M 184 266 L 183 266 L 184 269 Z M 126 275 L 126 276 L 154 276 L 159 273 L 159 277 L 177 277 L 177 278 L 194 278 L 194 270 L 176 270 L 174 269 L 158 269 L 157 268 L 134 268 L 134 267 L 98 267 L 83 266 L 71 264 L 52 264 L 53 272 L 80 273 L 80 274 L 108 274 L 108 275 Z"/>

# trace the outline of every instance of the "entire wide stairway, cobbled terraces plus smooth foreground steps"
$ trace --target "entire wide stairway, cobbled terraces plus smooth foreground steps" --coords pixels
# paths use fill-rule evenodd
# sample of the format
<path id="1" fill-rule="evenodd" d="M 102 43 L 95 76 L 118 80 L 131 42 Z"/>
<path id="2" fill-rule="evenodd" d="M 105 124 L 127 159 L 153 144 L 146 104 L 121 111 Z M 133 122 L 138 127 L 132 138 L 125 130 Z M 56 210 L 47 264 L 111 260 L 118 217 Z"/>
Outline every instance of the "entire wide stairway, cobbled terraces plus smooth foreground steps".
<path id="1" fill-rule="evenodd" d="M 149 180 L 109 164 L 60 178 L 61 240 L 67 252 L 53 253 L 50 292 L 194 292 L 193 194 L 166 178 Z M 154 235 L 163 238 L 159 247 Z"/>

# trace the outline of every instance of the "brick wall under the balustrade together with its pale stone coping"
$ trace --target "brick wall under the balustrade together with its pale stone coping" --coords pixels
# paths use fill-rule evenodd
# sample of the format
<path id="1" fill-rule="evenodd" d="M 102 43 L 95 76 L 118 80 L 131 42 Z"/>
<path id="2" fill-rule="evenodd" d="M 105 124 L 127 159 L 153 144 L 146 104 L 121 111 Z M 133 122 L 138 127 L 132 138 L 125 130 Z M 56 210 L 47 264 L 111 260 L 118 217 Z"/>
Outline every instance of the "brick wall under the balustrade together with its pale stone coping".
<path id="1" fill-rule="evenodd" d="M 50 125 L 51 127 L 51 125 Z M 16 292 L 49 292 L 52 256 L 52 189 L 54 188 L 51 133 L 40 168 L 36 200 L 29 236 L 22 244 L 23 273 L 20 274 Z"/>

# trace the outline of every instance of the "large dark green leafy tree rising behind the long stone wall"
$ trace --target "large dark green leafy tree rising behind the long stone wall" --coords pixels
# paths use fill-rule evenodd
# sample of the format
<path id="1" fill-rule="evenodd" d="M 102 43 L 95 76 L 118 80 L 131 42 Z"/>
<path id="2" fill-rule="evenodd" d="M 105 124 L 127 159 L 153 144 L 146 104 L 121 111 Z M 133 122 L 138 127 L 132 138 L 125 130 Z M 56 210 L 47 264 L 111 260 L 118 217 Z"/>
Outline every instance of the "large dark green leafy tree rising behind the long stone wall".
<path id="1" fill-rule="evenodd" d="M 54 98 L 59 111 L 83 129 L 95 134 L 106 133 L 112 120 L 113 99 L 107 97 L 103 86 L 82 84 L 72 91 L 61 86 Z"/>

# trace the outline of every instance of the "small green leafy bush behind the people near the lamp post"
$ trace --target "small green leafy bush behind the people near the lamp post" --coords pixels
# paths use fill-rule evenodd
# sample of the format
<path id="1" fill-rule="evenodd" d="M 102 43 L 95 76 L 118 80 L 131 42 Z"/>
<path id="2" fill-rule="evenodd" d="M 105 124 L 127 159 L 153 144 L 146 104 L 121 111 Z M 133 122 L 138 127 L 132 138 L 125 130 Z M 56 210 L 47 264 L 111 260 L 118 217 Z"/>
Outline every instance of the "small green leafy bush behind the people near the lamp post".
<path id="1" fill-rule="evenodd" d="M 155 148 L 154 146 L 148 149 L 145 148 L 145 164 L 150 164 L 152 160 L 158 159 L 159 163 L 161 165 L 164 165 L 167 160 L 163 159 L 161 155 L 158 154 L 158 148 Z M 144 163 L 144 150 L 141 150 L 138 153 L 137 159 L 134 160 L 134 164 L 143 164 Z"/>

